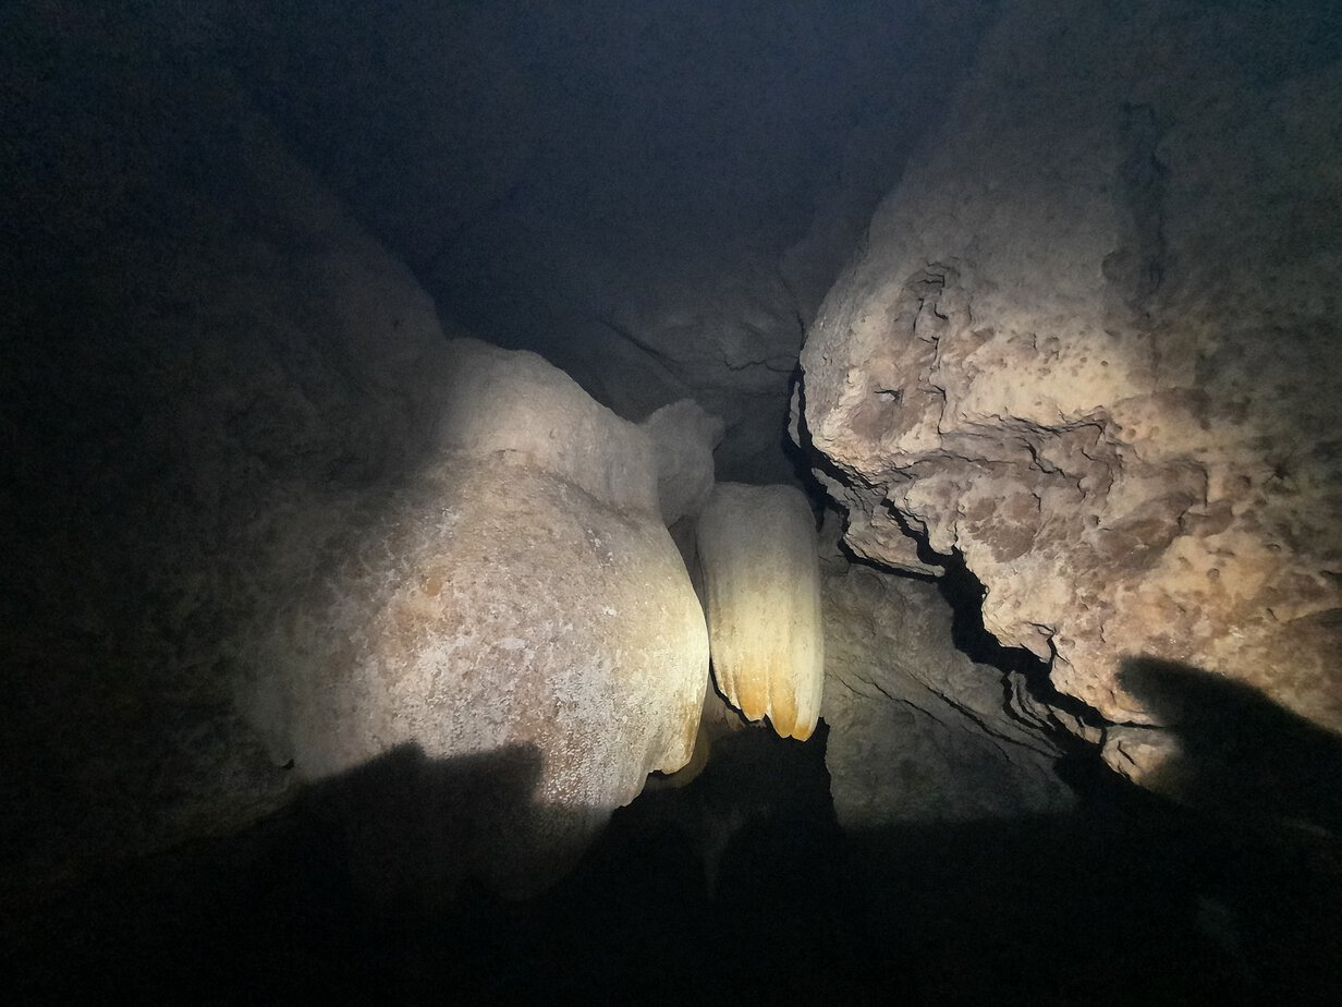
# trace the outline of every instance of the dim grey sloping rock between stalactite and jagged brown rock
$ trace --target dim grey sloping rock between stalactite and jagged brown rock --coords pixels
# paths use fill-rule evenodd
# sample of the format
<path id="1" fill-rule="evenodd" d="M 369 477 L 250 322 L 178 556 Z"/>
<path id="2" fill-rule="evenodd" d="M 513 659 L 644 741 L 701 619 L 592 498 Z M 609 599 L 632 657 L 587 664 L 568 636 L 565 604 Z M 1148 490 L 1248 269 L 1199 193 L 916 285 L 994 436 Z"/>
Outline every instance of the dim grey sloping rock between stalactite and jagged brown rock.
<path id="1" fill-rule="evenodd" d="M 823 591 L 825 764 L 844 828 L 1070 806 L 1057 751 L 1012 710 L 1000 669 L 956 650 L 934 584 L 852 565 Z"/>

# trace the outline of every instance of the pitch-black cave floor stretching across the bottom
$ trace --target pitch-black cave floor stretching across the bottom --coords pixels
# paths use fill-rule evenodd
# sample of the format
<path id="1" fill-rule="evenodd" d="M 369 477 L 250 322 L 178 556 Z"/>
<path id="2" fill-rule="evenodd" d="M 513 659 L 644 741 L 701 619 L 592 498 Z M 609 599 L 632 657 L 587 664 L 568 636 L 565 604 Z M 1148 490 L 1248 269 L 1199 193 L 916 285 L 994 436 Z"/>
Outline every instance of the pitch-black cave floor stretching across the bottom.
<path id="1" fill-rule="evenodd" d="M 1071 772 L 1071 815 L 845 835 L 823 761 L 760 732 L 545 896 L 440 913 L 370 912 L 290 811 L 11 908 L 11 1002 L 1342 1002 L 1335 849 Z"/>

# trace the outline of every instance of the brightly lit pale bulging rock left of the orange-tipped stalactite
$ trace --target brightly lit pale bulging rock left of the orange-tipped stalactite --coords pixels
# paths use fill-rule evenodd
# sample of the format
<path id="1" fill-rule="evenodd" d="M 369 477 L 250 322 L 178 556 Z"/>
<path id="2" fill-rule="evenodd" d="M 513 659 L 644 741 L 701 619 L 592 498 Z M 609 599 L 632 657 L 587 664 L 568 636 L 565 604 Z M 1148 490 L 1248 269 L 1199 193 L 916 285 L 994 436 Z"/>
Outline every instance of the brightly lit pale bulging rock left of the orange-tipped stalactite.
<path id="1" fill-rule="evenodd" d="M 260 642 L 272 678 L 251 713 L 311 780 L 407 744 L 429 760 L 519 753 L 522 799 L 450 791 L 420 857 L 446 885 L 525 893 L 650 772 L 690 760 L 707 635 L 647 435 L 539 357 L 452 349 L 437 450 L 413 483 L 313 514 L 319 561 Z M 376 859 L 380 831 L 357 823 L 352 843 Z M 423 883 L 420 866 L 395 870 Z"/>

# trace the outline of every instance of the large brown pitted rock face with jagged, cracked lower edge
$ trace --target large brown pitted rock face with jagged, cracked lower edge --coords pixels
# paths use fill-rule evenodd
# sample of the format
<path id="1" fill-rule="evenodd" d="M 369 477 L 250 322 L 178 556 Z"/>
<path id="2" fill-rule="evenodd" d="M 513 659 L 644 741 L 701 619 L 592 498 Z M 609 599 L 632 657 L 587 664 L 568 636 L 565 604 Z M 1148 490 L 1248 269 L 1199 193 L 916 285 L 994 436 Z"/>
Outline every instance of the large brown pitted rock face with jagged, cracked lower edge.
<path id="1" fill-rule="evenodd" d="M 1304 7 L 1002 7 L 809 332 L 805 434 L 854 550 L 962 553 L 1104 718 L 1172 722 L 1159 658 L 1338 730 L 1342 66 Z"/>

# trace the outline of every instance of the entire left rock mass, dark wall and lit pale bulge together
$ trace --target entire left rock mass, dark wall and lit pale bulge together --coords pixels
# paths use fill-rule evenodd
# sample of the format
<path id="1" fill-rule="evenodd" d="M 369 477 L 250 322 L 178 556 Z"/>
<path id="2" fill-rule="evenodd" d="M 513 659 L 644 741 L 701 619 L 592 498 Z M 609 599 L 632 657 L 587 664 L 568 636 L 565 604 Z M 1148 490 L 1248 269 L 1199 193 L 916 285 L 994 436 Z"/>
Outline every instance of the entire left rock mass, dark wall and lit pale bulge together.
<path id="1" fill-rule="evenodd" d="M 534 890 L 691 753 L 707 631 L 662 448 L 448 340 L 170 16 L 47 13 L 5 13 L 32 44 L 0 64 L 27 124 L 0 145 L 0 892 L 295 799 L 369 901 Z M 667 467 L 699 497 L 709 451 Z"/>

